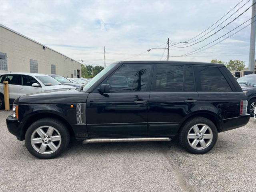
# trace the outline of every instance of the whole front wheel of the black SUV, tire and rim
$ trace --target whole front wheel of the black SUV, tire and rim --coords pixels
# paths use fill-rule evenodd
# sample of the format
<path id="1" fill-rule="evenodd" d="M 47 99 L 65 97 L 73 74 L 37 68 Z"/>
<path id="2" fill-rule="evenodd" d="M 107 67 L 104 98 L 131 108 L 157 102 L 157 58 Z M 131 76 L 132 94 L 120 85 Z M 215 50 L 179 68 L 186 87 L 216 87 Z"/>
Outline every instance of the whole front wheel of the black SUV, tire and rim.
<path id="1" fill-rule="evenodd" d="M 69 141 L 70 134 L 65 124 L 55 118 L 37 120 L 30 125 L 25 134 L 26 148 L 40 159 L 59 156 L 66 150 Z"/>

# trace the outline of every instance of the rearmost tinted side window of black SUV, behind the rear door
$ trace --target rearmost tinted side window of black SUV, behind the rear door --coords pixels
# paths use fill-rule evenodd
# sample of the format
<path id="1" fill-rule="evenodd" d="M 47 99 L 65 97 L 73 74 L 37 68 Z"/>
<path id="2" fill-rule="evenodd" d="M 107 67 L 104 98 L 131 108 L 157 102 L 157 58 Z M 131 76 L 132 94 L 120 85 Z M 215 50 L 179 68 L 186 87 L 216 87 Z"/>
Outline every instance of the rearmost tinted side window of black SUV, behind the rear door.
<path id="1" fill-rule="evenodd" d="M 199 91 L 231 91 L 231 88 L 217 67 L 196 67 L 200 82 Z"/>

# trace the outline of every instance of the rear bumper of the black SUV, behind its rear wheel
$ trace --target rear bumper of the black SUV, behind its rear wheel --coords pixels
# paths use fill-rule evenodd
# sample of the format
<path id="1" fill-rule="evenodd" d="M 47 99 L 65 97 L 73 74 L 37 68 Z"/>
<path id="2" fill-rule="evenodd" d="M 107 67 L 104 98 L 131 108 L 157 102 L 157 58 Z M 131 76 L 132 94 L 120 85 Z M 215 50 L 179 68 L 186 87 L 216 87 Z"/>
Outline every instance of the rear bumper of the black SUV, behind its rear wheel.
<path id="1" fill-rule="evenodd" d="M 222 125 L 222 130 L 221 132 L 232 130 L 238 127 L 242 127 L 248 123 L 250 120 L 250 115 L 244 115 L 244 116 L 239 116 L 235 118 L 229 118 L 229 119 L 224 119 L 221 120 L 220 123 Z"/>

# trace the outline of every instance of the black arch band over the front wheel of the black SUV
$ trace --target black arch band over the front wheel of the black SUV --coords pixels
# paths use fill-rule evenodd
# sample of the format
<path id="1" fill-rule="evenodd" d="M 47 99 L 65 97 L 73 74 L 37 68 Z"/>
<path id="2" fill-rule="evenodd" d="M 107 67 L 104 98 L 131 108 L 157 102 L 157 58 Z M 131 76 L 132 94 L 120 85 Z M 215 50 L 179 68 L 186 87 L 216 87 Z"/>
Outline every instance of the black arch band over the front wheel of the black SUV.
<path id="1" fill-rule="evenodd" d="M 35 122 L 37 120 L 40 120 L 40 119 L 43 119 L 43 118 L 55 118 L 55 119 L 58 119 L 58 120 L 62 121 L 66 125 L 66 127 L 68 128 L 70 136 L 71 137 L 75 136 L 74 131 L 73 131 L 71 125 L 68 123 L 68 121 L 66 119 L 64 119 L 62 116 L 59 116 L 58 114 L 44 112 L 44 113 L 33 114 L 32 116 L 30 116 L 26 120 L 26 122 L 24 122 L 24 125 L 22 126 L 21 139 L 22 140 L 25 139 L 26 131 L 28 130 L 29 126 L 33 122 Z"/>

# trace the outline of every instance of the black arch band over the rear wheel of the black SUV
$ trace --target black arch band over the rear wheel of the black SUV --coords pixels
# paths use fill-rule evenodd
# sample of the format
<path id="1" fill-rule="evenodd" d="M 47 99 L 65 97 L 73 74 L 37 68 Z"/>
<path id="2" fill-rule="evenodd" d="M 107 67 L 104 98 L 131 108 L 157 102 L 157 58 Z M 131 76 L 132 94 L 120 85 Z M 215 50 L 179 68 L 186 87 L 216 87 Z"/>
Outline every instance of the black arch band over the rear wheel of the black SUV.
<path id="1" fill-rule="evenodd" d="M 182 124 L 180 124 L 179 130 L 182 128 L 182 126 L 190 119 L 194 118 L 194 117 L 204 117 L 209 119 L 210 121 L 212 121 L 214 123 L 214 125 L 216 126 L 218 132 L 222 131 L 222 125 L 220 123 L 220 118 L 213 112 L 210 111 L 206 111 L 206 110 L 200 110 L 200 111 L 196 111 L 193 112 L 192 114 L 190 114 L 189 116 L 186 116 L 183 120 L 182 120 Z"/>

